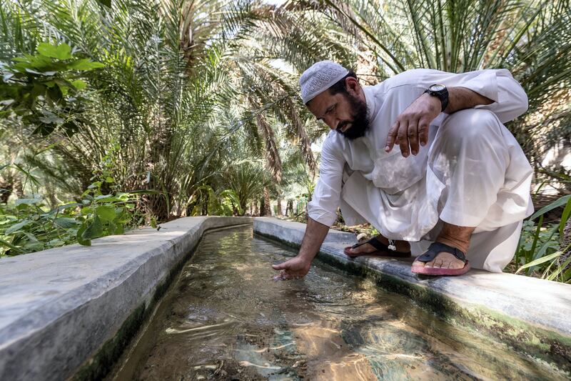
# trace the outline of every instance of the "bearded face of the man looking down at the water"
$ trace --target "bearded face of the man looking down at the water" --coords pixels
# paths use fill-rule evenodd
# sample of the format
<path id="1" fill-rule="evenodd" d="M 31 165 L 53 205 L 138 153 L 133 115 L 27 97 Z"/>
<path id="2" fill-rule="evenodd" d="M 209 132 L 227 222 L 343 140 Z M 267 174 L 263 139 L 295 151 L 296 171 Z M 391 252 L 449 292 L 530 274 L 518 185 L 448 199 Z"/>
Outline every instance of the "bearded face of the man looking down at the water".
<path id="1" fill-rule="evenodd" d="M 330 129 L 348 139 L 363 137 L 369 128 L 367 102 L 350 93 L 323 91 L 309 102 L 308 109 Z"/>

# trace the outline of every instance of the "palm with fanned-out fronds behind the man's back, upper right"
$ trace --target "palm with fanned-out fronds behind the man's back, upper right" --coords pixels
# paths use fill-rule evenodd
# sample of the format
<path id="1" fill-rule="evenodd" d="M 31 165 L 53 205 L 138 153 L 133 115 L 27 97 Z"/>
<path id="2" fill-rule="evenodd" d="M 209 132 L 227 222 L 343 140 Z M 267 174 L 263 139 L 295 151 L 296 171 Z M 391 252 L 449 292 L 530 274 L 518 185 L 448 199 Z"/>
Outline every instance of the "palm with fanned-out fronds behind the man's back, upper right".
<path id="1" fill-rule="evenodd" d="M 568 0 L 300 1 L 353 37 L 358 74 L 378 80 L 425 67 L 510 69 L 530 109 L 507 127 L 536 164 L 571 132 Z M 347 46 L 346 49 L 350 49 Z M 545 137 L 547 136 L 547 142 Z M 540 139 L 542 137 L 542 139 Z"/>

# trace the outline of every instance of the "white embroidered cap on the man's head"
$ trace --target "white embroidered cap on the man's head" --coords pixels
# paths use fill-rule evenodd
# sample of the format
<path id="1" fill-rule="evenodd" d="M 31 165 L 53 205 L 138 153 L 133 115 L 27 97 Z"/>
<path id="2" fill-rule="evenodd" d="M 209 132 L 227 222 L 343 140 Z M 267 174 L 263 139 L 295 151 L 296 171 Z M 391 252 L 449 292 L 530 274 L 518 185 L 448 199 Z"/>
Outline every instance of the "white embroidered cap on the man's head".
<path id="1" fill-rule="evenodd" d="M 337 62 L 316 62 L 309 69 L 303 71 L 299 78 L 303 103 L 307 104 L 347 74 L 349 71 Z"/>

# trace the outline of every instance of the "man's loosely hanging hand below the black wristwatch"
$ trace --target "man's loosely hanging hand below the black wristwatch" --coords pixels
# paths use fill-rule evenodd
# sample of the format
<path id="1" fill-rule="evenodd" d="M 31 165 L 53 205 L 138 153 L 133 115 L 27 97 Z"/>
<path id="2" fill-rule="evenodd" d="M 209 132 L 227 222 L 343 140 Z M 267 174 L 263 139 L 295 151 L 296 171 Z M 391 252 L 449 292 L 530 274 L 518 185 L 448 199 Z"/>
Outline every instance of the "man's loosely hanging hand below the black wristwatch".
<path id="1" fill-rule="evenodd" d="M 400 153 L 408 157 L 409 153 L 418 154 L 421 146 L 428 143 L 428 126 L 440 114 L 440 99 L 423 94 L 402 112 L 390 127 L 387 137 L 386 152 L 393 149 L 395 143 L 400 146 Z M 409 151 L 410 146 L 410 151 Z"/>

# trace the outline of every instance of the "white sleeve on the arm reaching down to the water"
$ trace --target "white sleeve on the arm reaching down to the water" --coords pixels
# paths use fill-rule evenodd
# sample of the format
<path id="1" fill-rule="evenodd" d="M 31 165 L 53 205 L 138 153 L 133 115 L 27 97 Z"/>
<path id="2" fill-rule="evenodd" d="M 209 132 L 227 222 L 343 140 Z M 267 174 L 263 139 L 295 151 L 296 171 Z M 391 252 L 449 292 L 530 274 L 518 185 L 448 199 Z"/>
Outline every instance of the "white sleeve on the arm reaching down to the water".
<path id="1" fill-rule="evenodd" d="M 336 132 L 335 132 L 336 134 Z M 333 147 L 330 137 L 323 142 L 319 179 L 308 203 L 308 216 L 328 227 L 337 219 L 343 184 L 343 166 L 345 159 L 338 147 Z"/>

